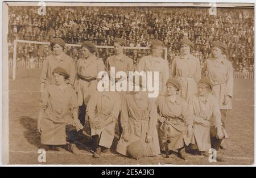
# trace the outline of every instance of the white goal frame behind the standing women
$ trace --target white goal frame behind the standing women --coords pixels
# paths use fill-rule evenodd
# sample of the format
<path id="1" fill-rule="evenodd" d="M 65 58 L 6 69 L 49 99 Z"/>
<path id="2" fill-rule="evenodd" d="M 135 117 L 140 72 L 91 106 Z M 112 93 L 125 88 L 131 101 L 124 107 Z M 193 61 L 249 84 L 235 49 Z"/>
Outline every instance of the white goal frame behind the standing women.
<path id="1" fill-rule="evenodd" d="M 14 46 L 13 46 L 13 48 L 14 48 L 14 50 L 13 50 L 13 80 L 16 79 L 16 66 L 17 66 L 16 54 L 17 54 L 17 44 L 18 43 L 50 45 L 49 42 L 42 42 L 42 41 L 14 40 Z M 65 44 L 65 46 L 81 47 L 81 44 Z M 114 48 L 114 46 L 97 46 L 96 45 L 96 48 L 111 49 L 111 48 Z M 129 47 L 129 46 L 124 46 L 123 48 L 124 49 L 143 49 L 143 50 L 150 49 L 148 47 Z M 167 50 L 167 48 L 164 48 L 164 60 L 167 60 L 167 54 L 168 54 L 168 50 Z"/>

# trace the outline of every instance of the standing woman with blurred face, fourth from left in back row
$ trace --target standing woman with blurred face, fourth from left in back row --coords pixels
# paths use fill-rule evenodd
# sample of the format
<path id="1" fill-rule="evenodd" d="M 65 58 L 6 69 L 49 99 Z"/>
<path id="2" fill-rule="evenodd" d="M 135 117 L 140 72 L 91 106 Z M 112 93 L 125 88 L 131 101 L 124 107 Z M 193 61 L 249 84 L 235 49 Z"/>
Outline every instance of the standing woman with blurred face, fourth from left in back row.
<path id="1" fill-rule="evenodd" d="M 169 76 L 169 65 L 166 60 L 162 58 L 163 55 L 163 48 L 164 44 L 160 40 L 152 40 L 150 45 L 150 55 L 144 56 L 139 60 L 138 63 L 138 71 L 158 71 L 159 78 L 155 78 L 154 81 L 158 80 L 159 82 L 159 94 L 162 91 L 166 91 L 166 81 L 168 80 Z M 143 84 L 143 87 L 144 84 Z"/>

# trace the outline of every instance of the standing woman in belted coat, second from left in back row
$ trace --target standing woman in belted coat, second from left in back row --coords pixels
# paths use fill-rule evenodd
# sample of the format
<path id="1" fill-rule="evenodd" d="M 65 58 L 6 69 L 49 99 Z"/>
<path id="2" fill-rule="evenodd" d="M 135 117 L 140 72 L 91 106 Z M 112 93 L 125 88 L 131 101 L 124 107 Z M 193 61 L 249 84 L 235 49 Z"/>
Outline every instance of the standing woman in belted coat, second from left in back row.
<path id="1" fill-rule="evenodd" d="M 92 41 L 82 43 L 82 58 L 76 64 L 75 90 L 81 114 L 81 123 L 85 123 L 85 108 L 90 96 L 97 91 L 97 74 L 105 71 L 104 62 L 95 56 L 96 46 Z"/>

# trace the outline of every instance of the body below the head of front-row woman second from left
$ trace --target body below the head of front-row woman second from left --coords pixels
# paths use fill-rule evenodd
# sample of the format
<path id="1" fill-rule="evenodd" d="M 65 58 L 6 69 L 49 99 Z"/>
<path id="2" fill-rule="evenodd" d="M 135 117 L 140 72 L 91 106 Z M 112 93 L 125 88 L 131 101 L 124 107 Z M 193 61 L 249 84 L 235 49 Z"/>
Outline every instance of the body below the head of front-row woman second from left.
<path id="1" fill-rule="evenodd" d="M 115 91 L 96 91 L 86 107 L 89 117 L 94 158 L 100 158 L 101 151 L 107 152 L 115 135 L 115 122 L 121 109 L 121 99 Z"/>

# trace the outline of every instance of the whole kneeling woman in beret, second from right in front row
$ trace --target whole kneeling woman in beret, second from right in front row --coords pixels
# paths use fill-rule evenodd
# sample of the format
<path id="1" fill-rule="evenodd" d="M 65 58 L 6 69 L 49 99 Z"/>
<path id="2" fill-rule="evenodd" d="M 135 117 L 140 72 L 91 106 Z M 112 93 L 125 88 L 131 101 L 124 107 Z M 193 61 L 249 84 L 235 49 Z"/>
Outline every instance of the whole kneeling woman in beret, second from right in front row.
<path id="1" fill-rule="evenodd" d="M 159 141 L 162 151 L 178 150 L 178 156 L 185 159 L 185 146 L 195 143 L 192 137 L 192 121 L 187 117 L 187 102 L 178 95 L 181 84 L 176 78 L 166 83 L 167 95 L 156 101 L 159 113 Z"/>

